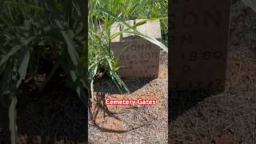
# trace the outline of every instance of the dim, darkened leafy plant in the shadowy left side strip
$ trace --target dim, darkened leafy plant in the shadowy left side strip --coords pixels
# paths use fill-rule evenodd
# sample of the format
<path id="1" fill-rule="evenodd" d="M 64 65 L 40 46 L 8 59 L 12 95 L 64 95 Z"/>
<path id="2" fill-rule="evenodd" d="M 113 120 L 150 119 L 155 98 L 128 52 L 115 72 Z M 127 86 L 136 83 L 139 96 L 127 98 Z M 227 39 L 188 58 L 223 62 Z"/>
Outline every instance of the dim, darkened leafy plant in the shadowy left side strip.
<path id="1" fill-rule="evenodd" d="M 17 143 L 17 91 L 28 75 L 39 74 L 40 60 L 53 63 L 43 90 L 59 67 L 69 78 L 82 102 L 89 90 L 87 72 L 79 55 L 85 42 L 82 15 L 77 1 L 0 1 L 0 98 L 10 91 L 11 142 Z M 85 45 L 86 46 L 86 45 Z"/>

